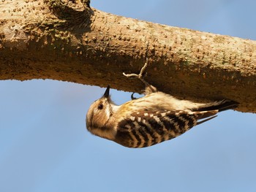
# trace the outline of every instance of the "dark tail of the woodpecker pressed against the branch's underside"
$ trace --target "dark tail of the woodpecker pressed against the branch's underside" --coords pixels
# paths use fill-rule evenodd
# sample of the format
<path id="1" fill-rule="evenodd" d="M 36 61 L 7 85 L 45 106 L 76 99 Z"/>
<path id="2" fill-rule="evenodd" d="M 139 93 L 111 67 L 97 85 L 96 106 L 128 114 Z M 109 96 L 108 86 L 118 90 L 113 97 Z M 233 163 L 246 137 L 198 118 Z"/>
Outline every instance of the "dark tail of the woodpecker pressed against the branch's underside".
<path id="1" fill-rule="evenodd" d="M 225 110 L 231 110 L 238 107 L 238 102 L 231 101 L 228 99 L 224 99 L 222 101 L 217 101 L 215 103 L 206 104 L 203 107 L 200 107 L 199 109 L 196 109 L 195 111 L 211 111 L 211 110 L 218 110 L 219 112 L 225 111 Z"/>

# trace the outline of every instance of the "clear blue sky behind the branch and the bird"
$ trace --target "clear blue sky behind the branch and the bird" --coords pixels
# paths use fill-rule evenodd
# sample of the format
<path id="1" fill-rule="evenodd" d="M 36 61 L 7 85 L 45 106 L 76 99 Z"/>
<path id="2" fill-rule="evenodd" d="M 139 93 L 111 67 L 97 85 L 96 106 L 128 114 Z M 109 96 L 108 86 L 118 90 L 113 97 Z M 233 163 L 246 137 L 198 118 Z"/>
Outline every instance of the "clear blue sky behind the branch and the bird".
<path id="1" fill-rule="evenodd" d="M 105 12 L 256 40 L 255 0 L 91 0 Z M 129 149 L 86 130 L 105 89 L 0 81 L 0 191 L 256 191 L 256 115 L 234 111 L 153 147 Z M 113 101 L 130 93 L 111 90 Z"/>

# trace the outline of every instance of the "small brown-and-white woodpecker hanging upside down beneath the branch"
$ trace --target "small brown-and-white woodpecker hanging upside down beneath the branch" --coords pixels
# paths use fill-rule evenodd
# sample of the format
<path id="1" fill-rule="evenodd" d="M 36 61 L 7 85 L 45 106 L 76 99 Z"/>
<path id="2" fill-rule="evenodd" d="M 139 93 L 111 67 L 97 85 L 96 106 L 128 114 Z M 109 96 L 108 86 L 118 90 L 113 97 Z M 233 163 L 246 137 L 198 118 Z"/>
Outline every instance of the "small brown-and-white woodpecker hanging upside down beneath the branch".
<path id="1" fill-rule="evenodd" d="M 104 95 L 94 101 L 86 115 L 86 127 L 97 135 L 125 147 L 140 148 L 156 145 L 184 134 L 193 126 L 217 117 L 217 113 L 238 107 L 236 101 L 223 99 L 210 103 L 197 103 L 176 99 L 157 91 L 143 79 L 143 73 L 124 74 L 137 77 L 145 85 L 145 96 L 116 105 L 110 99 L 110 86 Z"/>

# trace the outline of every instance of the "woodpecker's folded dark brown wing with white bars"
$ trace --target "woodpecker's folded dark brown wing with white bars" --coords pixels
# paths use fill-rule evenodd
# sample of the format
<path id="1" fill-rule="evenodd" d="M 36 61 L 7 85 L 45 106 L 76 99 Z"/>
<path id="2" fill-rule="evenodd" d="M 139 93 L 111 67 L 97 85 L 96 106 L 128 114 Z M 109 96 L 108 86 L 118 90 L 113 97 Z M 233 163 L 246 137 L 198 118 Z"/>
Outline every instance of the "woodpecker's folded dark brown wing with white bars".
<path id="1" fill-rule="evenodd" d="M 197 124 L 216 116 L 212 111 L 143 111 L 133 112 L 120 120 L 116 140 L 126 147 L 148 147 L 178 137 Z M 205 119 L 206 118 L 206 119 Z M 200 122 L 197 120 L 205 119 Z"/>

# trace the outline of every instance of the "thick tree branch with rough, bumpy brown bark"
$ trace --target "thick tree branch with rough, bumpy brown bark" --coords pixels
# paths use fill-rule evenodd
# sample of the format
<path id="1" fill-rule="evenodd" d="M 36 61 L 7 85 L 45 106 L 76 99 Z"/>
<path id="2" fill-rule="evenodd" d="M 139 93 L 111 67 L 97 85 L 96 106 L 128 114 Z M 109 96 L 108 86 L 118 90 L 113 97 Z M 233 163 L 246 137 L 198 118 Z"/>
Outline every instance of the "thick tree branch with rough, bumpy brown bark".
<path id="1" fill-rule="evenodd" d="M 111 15 L 89 1 L 0 4 L 0 79 L 53 79 L 140 92 L 146 80 L 179 98 L 232 99 L 256 112 L 256 42 Z"/>

